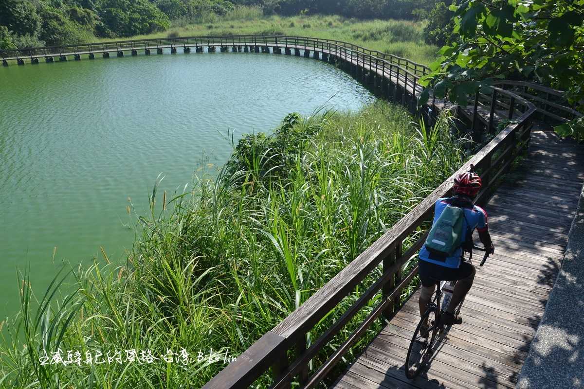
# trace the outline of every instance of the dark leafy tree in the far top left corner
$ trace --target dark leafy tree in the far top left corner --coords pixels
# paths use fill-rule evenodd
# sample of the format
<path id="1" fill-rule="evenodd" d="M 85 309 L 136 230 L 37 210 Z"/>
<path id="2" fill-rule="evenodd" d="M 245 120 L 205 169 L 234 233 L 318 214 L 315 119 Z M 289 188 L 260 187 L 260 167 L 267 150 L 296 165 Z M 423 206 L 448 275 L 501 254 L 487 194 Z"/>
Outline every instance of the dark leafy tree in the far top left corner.
<path id="1" fill-rule="evenodd" d="M 0 24 L 19 35 L 36 36 L 40 28 L 36 6 L 27 0 L 0 1 Z"/>

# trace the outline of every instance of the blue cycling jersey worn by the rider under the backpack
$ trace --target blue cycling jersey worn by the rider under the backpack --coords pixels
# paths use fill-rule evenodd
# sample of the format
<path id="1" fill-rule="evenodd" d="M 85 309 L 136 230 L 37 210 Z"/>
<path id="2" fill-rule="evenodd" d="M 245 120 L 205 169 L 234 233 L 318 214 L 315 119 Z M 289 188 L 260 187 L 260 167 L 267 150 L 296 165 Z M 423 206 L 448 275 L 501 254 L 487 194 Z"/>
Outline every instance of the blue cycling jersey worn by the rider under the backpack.
<path id="1" fill-rule="evenodd" d="M 442 211 L 444 211 L 447 205 L 452 203 L 453 199 L 454 198 L 444 197 L 436 201 L 436 204 L 434 205 L 434 220 L 432 224 L 436 223 L 436 220 L 438 220 Z M 481 232 L 486 231 L 487 229 L 487 216 L 485 210 L 478 205 L 472 205 L 470 203 L 468 203 L 468 206 L 464 207 L 463 236 L 461 241 L 465 241 L 467 226 L 469 225 L 471 232 L 474 231 L 475 228 Z M 454 269 L 460 266 L 460 258 L 462 255 L 463 249 L 461 247 L 457 248 L 450 257 L 446 257 L 446 260 L 444 260 L 444 257 L 430 253 L 430 251 L 426 250 L 426 245 L 422 246 L 422 249 L 419 252 L 420 260 Z"/>

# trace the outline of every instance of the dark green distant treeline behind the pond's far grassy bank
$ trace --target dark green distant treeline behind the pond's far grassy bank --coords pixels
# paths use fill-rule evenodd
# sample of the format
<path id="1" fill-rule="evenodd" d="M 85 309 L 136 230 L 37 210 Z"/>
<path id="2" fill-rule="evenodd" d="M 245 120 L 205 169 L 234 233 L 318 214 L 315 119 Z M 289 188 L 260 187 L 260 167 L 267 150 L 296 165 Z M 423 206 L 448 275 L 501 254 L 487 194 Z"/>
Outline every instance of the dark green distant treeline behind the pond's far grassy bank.
<path id="1" fill-rule="evenodd" d="M 436 0 L 1 0 L 0 48 L 82 43 L 164 31 L 171 20 L 196 23 L 238 6 L 265 15 L 335 14 L 359 19 L 414 19 Z"/>

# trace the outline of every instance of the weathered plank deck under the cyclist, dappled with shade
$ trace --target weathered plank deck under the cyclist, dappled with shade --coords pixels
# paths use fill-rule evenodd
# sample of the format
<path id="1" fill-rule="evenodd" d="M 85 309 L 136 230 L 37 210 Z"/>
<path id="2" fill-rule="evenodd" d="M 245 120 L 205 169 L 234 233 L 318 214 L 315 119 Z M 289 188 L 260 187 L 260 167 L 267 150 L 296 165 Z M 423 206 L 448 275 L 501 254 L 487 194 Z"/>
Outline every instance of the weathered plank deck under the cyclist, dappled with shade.
<path id="1" fill-rule="evenodd" d="M 583 183 L 584 146 L 532 131 L 529 155 L 486 205 L 495 254 L 477 266 L 463 324 L 438 339 L 429 370 L 413 381 L 404 374 L 418 290 L 331 388 L 515 388 Z"/>

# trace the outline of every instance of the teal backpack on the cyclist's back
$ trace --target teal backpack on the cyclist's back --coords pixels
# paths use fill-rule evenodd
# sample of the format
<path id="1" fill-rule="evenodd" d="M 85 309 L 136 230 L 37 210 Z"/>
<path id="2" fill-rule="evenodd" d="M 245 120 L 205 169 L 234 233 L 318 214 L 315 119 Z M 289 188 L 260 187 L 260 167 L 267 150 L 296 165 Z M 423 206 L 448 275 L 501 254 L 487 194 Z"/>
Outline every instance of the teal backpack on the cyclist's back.
<path id="1" fill-rule="evenodd" d="M 462 246 L 464 209 L 447 205 L 426 239 L 426 249 L 432 254 L 450 257 Z"/>

